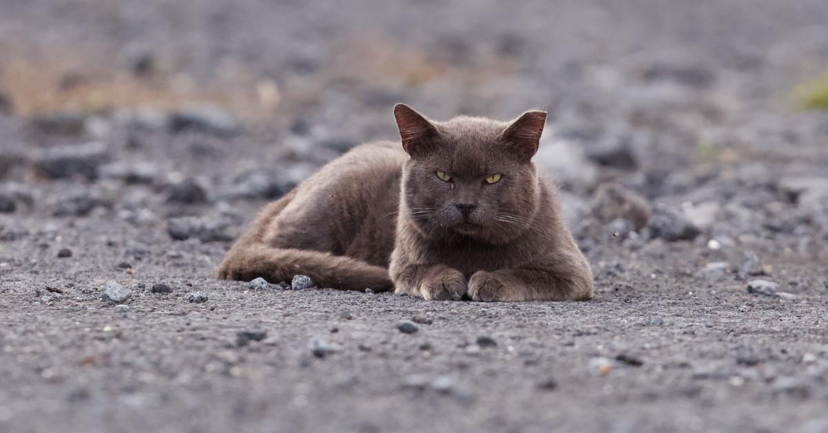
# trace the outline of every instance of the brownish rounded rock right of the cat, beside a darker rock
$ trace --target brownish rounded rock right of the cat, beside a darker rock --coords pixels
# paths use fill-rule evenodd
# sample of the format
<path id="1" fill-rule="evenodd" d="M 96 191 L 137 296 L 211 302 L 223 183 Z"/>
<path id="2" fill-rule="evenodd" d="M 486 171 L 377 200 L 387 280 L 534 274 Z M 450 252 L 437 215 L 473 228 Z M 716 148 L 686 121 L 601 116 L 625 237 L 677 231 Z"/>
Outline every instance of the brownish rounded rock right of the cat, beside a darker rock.
<path id="1" fill-rule="evenodd" d="M 603 223 L 627 219 L 635 229 L 643 229 L 650 219 L 647 199 L 615 182 L 604 182 L 595 190 L 591 204 L 592 215 Z"/>

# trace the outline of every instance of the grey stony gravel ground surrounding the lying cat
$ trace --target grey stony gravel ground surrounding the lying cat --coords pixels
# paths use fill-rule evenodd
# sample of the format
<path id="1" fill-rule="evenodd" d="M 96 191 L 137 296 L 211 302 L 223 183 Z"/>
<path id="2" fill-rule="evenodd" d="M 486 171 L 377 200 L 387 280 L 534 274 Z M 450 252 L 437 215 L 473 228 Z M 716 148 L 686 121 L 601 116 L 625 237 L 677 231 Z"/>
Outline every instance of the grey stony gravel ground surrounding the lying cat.
<path id="1" fill-rule="evenodd" d="M 828 431 L 823 0 L 289 3 L 3 2 L 0 431 Z M 398 101 L 549 111 L 595 300 L 212 279 Z"/>

